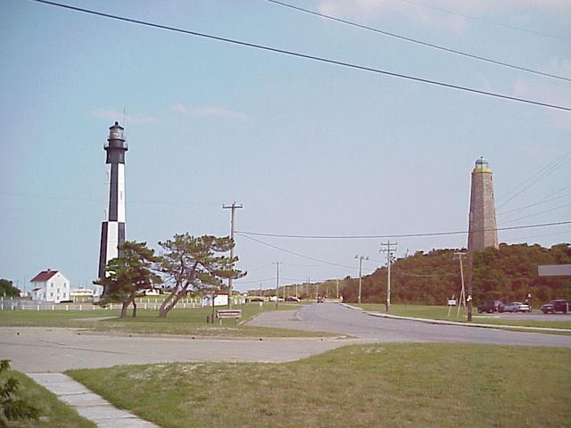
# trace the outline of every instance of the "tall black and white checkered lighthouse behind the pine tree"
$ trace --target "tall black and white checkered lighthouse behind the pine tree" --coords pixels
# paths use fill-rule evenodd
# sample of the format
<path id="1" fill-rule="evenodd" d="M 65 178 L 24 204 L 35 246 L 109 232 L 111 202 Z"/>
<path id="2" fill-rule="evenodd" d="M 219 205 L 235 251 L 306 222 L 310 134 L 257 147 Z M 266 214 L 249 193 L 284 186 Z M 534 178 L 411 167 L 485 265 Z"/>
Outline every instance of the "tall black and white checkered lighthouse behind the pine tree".
<path id="1" fill-rule="evenodd" d="M 125 242 L 125 152 L 128 144 L 124 128 L 115 122 L 109 128 L 107 144 L 106 184 L 109 200 L 105 221 L 101 224 L 101 243 L 99 250 L 99 277 L 105 277 L 105 265 L 111 259 L 120 256 L 119 244 Z M 101 294 L 100 292 L 98 294 Z"/>

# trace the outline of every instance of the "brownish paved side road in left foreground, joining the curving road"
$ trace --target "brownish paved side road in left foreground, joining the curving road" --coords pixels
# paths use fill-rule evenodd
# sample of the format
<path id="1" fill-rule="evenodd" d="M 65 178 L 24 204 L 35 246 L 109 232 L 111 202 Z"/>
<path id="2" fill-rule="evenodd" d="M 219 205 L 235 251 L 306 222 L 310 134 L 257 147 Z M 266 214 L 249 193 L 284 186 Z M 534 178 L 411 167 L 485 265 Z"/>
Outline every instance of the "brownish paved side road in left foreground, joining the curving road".
<path id="1" fill-rule="evenodd" d="M 338 339 L 205 340 L 93 334 L 65 328 L 0 328 L 0 359 L 27 373 L 171 361 L 284 362 L 346 344 Z"/>

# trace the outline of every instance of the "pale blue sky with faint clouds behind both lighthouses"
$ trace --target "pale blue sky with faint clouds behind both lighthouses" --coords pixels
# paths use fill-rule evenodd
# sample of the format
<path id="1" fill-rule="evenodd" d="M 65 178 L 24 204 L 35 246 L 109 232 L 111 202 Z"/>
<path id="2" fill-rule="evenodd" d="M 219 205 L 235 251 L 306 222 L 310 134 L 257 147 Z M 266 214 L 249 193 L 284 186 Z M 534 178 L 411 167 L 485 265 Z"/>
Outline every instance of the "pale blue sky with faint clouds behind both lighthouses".
<path id="1" fill-rule="evenodd" d="M 62 0 L 96 12 L 571 107 L 567 0 Z M 498 227 L 571 220 L 571 112 L 271 53 L 31 0 L 0 3 L 0 277 L 97 276 L 103 144 L 126 128 L 127 239 L 229 235 L 238 290 L 358 276 L 386 236 L 468 229 L 470 172 L 493 171 Z M 500 230 L 571 242 L 571 225 Z M 467 235 L 391 238 L 397 257 Z M 276 265 L 279 262 L 279 265 Z"/>

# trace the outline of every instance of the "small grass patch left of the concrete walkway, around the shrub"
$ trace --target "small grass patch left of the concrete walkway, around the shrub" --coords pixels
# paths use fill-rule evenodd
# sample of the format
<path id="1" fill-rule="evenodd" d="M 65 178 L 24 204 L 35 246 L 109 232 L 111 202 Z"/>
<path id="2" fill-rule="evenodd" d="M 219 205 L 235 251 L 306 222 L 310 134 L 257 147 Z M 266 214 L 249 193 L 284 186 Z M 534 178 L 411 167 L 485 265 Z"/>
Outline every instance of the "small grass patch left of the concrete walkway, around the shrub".
<path id="1" fill-rule="evenodd" d="M 25 374 L 8 371 L 0 375 L 0 381 L 6 377 L 15 377 L 20 381 L 18 397 L 40 409 L 39 420 L 14 421 L 8 426 L 13 428 L 95 428 L 95 424 L 78 415 L 73 408 L 65 405 L 50 391 L 32 381 Z"/>

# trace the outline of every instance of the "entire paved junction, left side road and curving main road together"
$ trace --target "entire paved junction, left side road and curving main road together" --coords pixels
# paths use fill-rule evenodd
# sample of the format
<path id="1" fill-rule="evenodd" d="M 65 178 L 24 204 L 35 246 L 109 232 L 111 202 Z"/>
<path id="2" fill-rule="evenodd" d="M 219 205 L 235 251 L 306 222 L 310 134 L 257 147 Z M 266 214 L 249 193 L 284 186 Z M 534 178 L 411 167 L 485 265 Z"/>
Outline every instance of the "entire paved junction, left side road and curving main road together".
<path id="1" fill-rule="evenodd" d="M 248 324 L 338 333 L 352 339 L 211 340 L 106 335 L 65 328 L 2 327 L 0 359 L 27 373 L 173 361 L 285 362 L 362 342 L 472 342 L 571 348 L 571 336 L 372 317 L 337 303 L 265 312 Z"/>

